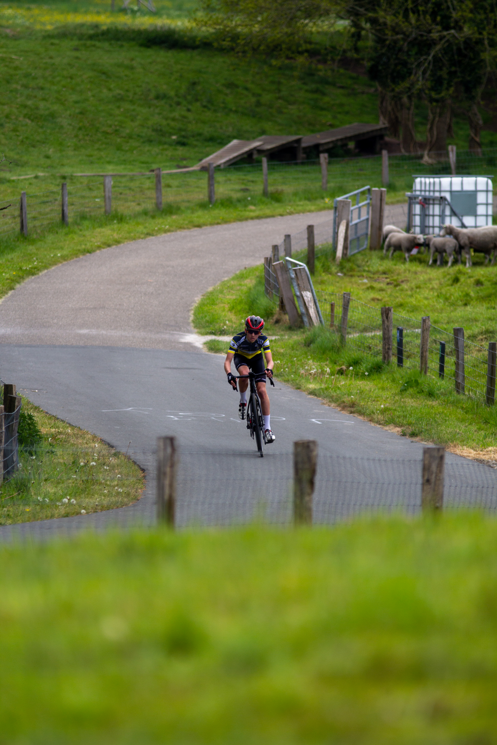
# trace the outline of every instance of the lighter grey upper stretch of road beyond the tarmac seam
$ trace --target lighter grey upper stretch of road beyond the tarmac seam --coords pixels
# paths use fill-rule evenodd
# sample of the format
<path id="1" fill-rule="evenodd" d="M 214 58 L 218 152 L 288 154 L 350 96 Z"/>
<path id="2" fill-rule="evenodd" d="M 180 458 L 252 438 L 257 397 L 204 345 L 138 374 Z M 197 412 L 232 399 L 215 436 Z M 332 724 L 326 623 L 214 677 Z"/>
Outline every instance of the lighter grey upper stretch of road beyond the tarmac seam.
<path id="1" fill-rule="evenodd" d="M 191 349 L 190 313 L 209 288 L 262 263 L 285 232 L 332 212 L 145 238 L 60 264 L 0 303 L 0 343 Z"/>

